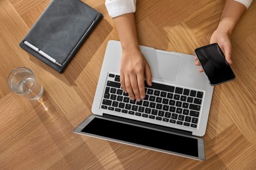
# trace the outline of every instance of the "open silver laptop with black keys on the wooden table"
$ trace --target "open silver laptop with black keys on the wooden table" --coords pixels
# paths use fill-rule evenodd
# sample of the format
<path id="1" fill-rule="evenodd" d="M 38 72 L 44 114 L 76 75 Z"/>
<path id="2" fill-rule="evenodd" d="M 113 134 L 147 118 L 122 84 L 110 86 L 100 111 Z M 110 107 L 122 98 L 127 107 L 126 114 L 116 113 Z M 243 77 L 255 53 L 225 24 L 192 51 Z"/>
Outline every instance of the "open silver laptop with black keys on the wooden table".
<path id="1" fill-rule="evenodd" d="M 194 56 L 140 46 L 152 71 L 146 97 L 132 101 L 119 82 L 121 43 L 109 41 L 92 112 L 75 133 L 205 160 L 204 142 L 213 86 Z"/>

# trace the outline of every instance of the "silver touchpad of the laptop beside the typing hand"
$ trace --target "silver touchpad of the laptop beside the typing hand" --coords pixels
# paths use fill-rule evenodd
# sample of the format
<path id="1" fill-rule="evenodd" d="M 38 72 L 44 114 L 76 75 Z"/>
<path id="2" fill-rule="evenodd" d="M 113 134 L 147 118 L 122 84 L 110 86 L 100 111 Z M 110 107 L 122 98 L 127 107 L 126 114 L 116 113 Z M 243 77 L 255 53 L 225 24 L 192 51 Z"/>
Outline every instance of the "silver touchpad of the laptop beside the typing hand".
<path id="1" fill-rule="evenodd" d="M 152 76 L 164 80 L 175 80 L 179 66 L 179 56 L 153 50 L 143 50 L 142 53 L 150 65 Z"/>

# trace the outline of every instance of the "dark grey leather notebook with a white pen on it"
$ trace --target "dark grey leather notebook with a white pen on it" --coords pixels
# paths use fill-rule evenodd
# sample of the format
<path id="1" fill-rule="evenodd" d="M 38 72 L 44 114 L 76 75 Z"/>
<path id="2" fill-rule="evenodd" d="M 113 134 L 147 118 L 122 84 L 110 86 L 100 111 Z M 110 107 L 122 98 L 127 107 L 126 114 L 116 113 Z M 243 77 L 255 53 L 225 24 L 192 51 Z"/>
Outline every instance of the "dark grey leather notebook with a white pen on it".
<path id="1" fill-rule="evenodd" d="M 102 14 L 79 0 L 53 0 L 20 46 L 62 73 Z"/>

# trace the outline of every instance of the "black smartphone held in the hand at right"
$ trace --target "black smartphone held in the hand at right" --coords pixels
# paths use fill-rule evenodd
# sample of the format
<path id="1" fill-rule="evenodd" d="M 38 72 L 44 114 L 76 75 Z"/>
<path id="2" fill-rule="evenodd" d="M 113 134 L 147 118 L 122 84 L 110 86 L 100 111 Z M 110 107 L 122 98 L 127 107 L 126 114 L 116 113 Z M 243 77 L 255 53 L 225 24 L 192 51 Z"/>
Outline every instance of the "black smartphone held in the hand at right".
<path id="1" fill-rule="evenodd" d="M 212 86 L 236 77 L 217 43 L 196 48 L 195 53 Z"/>

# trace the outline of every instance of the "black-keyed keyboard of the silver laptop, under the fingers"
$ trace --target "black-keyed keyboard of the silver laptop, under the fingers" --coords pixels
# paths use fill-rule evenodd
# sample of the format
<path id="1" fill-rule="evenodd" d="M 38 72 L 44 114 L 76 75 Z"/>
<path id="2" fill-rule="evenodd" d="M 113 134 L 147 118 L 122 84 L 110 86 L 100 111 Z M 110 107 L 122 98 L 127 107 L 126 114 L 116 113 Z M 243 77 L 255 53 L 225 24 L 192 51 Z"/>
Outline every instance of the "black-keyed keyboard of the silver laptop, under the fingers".
<path id="1" fill-rule="evenodd" d="M 142 116 L 180 126 L 198 127 L 203 92 L 179 86 L 145 83 L 146 97 L 140 102 L 131 100 L 121 89 L 119 75 L 110 73 L 101 109 Z"/>

